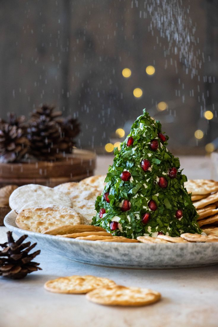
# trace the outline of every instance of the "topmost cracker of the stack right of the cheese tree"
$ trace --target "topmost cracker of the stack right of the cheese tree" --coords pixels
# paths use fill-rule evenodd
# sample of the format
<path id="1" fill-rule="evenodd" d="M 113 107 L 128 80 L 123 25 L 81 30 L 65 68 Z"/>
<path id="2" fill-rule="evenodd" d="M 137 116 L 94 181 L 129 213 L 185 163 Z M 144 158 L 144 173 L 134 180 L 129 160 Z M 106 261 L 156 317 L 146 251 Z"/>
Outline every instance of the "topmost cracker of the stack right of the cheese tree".
<path id="1" fill-rule="evenodd" d="M 213 180 L 188 180 L 184 185 L 188 193 L 192 195 L 209 194 L 218 191 L 218 182 Z"/>

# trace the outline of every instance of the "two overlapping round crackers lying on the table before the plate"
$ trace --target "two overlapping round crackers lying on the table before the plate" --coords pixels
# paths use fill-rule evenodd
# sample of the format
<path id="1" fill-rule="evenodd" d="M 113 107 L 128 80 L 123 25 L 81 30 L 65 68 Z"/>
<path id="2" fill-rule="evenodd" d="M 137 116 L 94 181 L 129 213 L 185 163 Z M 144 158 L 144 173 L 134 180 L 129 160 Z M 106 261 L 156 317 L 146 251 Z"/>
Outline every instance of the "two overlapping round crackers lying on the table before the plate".
<path id="1" fill-rule="evenodd" d="M 47 281 L 47 291 L 66 294 L 86 294 L 86 299 L 103 305 L 142 306 L 160 300 L 161 294 L 147 288 L 117 285 L 108 278 L 67 276 Z"/>

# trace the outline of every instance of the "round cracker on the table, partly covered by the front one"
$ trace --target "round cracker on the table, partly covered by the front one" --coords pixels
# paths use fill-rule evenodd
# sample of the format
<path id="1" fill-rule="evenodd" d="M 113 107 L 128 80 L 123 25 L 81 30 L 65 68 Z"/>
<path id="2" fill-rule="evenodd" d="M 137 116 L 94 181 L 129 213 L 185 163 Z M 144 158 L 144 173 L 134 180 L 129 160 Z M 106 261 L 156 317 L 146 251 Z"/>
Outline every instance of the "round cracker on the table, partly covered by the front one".
<path id="1" fill-rule="evenodd" d="M 54 293 L 84 294 L 103 286 L 115 286 L 116 283 L 108 278 L 95 276 L 68 276 L 50 280 L 45 283 L 47 291 Z"/>

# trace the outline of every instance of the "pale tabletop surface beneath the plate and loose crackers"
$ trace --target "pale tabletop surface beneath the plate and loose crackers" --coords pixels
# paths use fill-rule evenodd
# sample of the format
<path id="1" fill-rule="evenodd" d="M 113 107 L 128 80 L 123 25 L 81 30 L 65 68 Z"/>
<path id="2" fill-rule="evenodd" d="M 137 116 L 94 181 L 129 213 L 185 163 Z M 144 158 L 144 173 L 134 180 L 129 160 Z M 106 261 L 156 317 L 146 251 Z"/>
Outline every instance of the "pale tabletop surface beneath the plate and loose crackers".
<path id="1" fill-rule="evenodd" d="M 184 160 L 189 178 L 210 178 L 209 160 L 201 159 Z M 96 173 L 105 173 L 112 160 L 110 156 L 98 157 Z M 6 227 L 0 227 L 0 243 L 6 241 L 6 232 Z M 42 271 L 22 280 L 0 277 L 0 327 L 217 326 L 218 266 L 178 270 L 107 268 L 73 262 L 46 249 L 35 261 L 40 262 Z M 87 301 L 84 295 L 54 294 L 43 287 L 49 279 L 85 274 L 108 277 L 121 285 L 152 288 L 162 294 L 162 300 L 138 308 L 107 307 Z"/>

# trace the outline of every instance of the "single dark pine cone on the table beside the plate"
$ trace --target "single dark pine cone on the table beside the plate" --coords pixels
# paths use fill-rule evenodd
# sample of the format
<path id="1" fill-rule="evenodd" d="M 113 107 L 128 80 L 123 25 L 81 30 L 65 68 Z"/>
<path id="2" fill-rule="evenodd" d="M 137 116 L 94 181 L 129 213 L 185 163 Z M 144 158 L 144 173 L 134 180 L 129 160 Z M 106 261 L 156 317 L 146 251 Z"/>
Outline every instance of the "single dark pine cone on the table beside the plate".
<path id="1" fill-rule="evenodd" d="M 28 273 L 33 271 L 42 270 L 37 267 L 39 264 L 32 262 L 39 253 L 40 250 L 34 253 L 28 254 L 37 243 L 30 246 L 30 242 L 23 243 L 27 238 L 27 235 L 21 236 L 16 242 L 12 237 L 12 232 L 7 232 L 8 242 L 0 244 L 3 248 L 0 251 L 0 276 L 21 279 L 27 276 Z"/>

